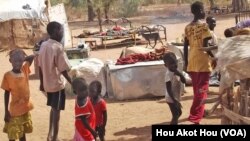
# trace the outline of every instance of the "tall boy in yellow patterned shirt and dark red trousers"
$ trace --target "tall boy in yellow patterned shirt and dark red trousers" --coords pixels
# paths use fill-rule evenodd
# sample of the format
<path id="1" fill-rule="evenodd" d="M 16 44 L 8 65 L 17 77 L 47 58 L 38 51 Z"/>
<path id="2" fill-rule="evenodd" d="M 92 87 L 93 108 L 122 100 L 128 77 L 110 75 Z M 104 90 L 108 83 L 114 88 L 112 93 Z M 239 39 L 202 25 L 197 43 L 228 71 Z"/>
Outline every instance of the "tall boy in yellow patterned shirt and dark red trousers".
<path id="1" fill-rule="evenodd" d="M 201 21 L 205 18 L 203 3 L 194 2 L 191 5 L 191 12 L 194 19 L 185 27 L 184 40 L 185 66 L 192 78 L 194 90 L 193 104 L 188 119 L 194 124 L 199 124 L 205 108 L 201 102 L 207 97 L 209 76 L 212 70 L 210 57 L 214 57 L 214 55 L 211 51 L 202 50 L 202 48 L 208 47 L 208 40 L 212 38 L 207 24 Z M 189 49 L 188 46 L 190 46 Z"/>

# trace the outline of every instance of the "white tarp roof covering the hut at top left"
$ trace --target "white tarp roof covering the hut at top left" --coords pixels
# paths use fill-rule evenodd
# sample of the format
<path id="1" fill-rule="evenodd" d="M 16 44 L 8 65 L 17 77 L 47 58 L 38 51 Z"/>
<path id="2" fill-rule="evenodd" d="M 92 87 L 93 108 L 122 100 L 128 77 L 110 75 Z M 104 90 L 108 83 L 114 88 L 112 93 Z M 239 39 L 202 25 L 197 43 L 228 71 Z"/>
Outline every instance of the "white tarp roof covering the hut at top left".
<path id="1" fill-rule="evenodd" d="M 31 9 L 23 9 L 27 4 Z M 44 8 L 44 0 L 0 0 L 0 21 L 40 19 Z"/>

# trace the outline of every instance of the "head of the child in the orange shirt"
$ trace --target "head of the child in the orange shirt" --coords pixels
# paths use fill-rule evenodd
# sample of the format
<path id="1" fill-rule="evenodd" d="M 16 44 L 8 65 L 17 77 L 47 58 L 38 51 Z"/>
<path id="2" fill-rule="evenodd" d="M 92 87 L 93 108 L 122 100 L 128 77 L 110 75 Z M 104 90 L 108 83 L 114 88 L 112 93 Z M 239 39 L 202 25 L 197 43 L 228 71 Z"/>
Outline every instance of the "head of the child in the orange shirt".
<path id="1" fill-rule="evenodd" d="M 9 52 L 9 56 L 9 61 L 12 64 L 13 70 L 21 70 L 26 53 L 22 49 L 16 48 Z"/>

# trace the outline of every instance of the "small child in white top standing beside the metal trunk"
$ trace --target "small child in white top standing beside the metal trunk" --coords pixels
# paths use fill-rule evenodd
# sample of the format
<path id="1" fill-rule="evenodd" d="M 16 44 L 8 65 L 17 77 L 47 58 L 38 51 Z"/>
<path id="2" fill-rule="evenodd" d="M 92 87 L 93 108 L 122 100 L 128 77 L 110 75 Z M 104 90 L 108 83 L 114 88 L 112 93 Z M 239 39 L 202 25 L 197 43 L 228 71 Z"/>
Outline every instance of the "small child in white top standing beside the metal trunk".
<path id="1" fill-rule="evenodd" d="M 178 119 L 182 114 L 181 111 L 181 104 L 179 102 L 181 89 L 180 89 L 180 82 L 177 80 L 177 76 L 180 78 L 182 83 L 186 83 L 186 79 L 181 72 L 177 70 L 177 59 L 174 53 L 168 52 L 164 54 L 163 61 L 165 64 L 166 75 L 165 75 L 165 82 L 166 82 L 166 101 L 169 105 L 170 111 L 172 113 L 172 120 L 170 122 L 171 125 L 177 125 Z M 179 87 L 179 88 L 177 88 Z M 174 89 L 177 88 L 177 89 Z"/>

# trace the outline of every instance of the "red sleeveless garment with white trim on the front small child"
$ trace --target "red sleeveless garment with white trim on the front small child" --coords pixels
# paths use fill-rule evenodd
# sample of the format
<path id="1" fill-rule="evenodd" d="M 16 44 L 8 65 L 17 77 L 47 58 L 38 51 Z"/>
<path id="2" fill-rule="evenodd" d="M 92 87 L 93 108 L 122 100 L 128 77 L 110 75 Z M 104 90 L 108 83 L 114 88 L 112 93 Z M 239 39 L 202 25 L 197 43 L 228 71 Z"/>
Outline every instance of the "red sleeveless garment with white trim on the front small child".
<path id="1" fill-rule="evenodd" d="M 87 98 L 86 104 L 81 107 L 77 104 L 77 102 L 75 104 L 75 127 L 84 140 L 94 140 L 91 132 L 85 128 L 81 119 L 79 118 L 82 115 L 87 115 L 87 120 L 90 127 L 95 130 L 95 111 L 89 98 Z"/>

